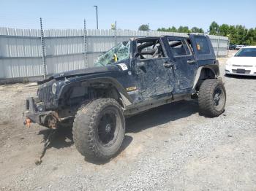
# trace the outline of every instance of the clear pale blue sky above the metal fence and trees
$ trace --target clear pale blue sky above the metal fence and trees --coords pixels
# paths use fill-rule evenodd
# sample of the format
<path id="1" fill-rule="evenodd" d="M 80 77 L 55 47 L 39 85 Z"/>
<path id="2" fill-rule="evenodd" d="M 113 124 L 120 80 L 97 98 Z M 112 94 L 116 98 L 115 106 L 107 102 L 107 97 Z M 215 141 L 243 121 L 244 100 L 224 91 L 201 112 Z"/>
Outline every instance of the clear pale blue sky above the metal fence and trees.
<path id="1" fill-rule="evenodd" d="M 167 0 L 0 0 L 0 27 L 39 28 L 39 17 L 45 28 L 96 28 L 98 6 L 99 28 L 137 30 L 149 23 L 151 30 L 169 26 L 197 26 L 208 29 L 212 21 L 219 24 L 241 24 L 256 27 L 256 1 L 167 1 Z"/>

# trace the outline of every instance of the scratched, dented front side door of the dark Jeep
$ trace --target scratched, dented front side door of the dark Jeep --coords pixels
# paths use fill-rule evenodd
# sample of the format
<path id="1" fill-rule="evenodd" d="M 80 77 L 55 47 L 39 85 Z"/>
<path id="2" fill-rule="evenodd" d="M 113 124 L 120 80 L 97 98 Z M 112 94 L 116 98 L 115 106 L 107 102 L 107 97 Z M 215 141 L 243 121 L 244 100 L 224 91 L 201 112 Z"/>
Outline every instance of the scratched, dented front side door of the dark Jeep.
<path id="1" fill-rule="evenodd" d="M 152 39 L 153 42 L 155 39 Z M 139 39 L 138 44 L 143 44 L 143 39 Z M 145 43 L 148 43 L 148 39 L 145 39 Z M 149 43 L 150 44 L 150 43 Z M 158 56 L 151 58 L 152 55 L 142 55 L 144 52 L 151 51 L 153 48 L 160 52 Z M 148 100 L 156 95 L 162 95 L 173 91 L 175 84 L 173 75 L 173 63 L 170 62 L 170 58 L 166 56 L 162 42 L 159 40 L 158 44 L 154 44 L 151 47 L 145 47 L 143 50 L 137 49 L 138 58 L 135 59 L 135 70 L 138 77 L 138 87 L 144 100 Z M 153 53 L 153 55 L 155 55 Z"/>

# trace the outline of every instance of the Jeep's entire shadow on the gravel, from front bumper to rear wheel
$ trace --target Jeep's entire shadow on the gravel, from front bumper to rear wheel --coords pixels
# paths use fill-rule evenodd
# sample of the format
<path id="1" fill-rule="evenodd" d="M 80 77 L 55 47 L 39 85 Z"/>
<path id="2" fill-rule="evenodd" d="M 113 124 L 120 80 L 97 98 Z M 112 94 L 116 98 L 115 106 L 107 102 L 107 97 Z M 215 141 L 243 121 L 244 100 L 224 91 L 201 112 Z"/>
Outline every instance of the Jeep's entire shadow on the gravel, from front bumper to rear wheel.
<path id="1" fill-rule="evenodd" d="M 164 106 L 159 106 L 154 109 L 150 109 L 147 112 L 137 114 L 133 117 L 129 117 L 126 122 L 126 133 L 139 133 L 142 130 L 148 128 L 154 128 L 158 125 L 163 125 L 167 122 L 179 120 L 184 117 L 189 117 L 191 114 L 198 112 L 197 101 L 178 101 L 175 103 L 167 104 Z M 39 134 L 43 135 L 43 140 L 46 141 L 50 135 L 50 129 L 40 130 Z M 124 136 L 124 141 L 119 149 L 119 152 L 114 156 L 118 156 L 124 149 L 126 149 L 132 142 L 131 136 Z M 56 148 L 61 149 L 65 147 L 71 147 L 74 144 L 72 138 L 72 127 L 59 128 L 54 133 L 50 144 L 47 149 Z M 47 155 L 47 153 L 45 154 Z M 89 163 L 94 163 L 96 165 L 102 165 L 110 162 L 110 160 L 105 161 L 95 161 L 86 159 Z"/>

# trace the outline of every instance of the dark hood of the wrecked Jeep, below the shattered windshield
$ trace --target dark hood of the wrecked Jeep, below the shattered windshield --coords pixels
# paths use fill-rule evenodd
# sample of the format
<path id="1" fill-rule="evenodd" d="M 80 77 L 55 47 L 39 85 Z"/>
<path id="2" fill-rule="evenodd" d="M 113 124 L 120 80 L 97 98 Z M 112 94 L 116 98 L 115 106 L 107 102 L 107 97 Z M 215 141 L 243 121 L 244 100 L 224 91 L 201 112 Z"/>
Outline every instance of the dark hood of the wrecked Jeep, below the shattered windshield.
<path id="1" fill-rule="evenodd" d="M 90 68 L 87 68 L 87 69 L 64 71 L 64 72 L 61 72 L 61 73 L 58 73 L 58 74 L 53 74 L 53 76 L 48 77 L 48 79 L 44 79 L 42 81 L 39 81 L 39 82 L 37 82 L 37 84 L 40 85 L 40 84 L 43 84 L 45 82 L 49 82 L 52 79 L 83 76 L 83 75 L 89 75 L 89 74 L 108 73 L 108 72 L 113 72 L 113 71 L 120 71 L 120 69 L 116 65 L 109 65 L 109 66 L 90 67 Z"/>

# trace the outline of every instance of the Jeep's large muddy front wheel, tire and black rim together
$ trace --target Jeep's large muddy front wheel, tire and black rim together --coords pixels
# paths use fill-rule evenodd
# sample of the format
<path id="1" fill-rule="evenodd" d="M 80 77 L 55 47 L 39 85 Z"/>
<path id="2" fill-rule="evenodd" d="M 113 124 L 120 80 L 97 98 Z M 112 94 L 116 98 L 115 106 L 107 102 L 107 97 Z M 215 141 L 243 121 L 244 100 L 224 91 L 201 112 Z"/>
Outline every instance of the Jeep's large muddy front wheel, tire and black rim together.
<path id="1" fill-rule="evenodd" d="M 81 106 L 73 124 L 75 147 L 87 160 L 108 160 L 116 155 L 124 132 L 124 114 L 113 98 Z"/>

